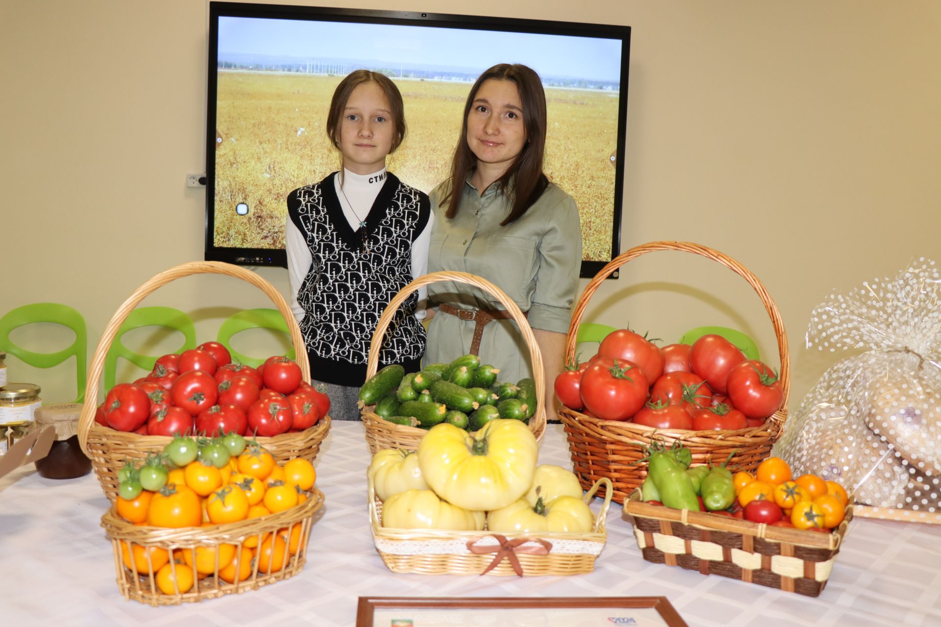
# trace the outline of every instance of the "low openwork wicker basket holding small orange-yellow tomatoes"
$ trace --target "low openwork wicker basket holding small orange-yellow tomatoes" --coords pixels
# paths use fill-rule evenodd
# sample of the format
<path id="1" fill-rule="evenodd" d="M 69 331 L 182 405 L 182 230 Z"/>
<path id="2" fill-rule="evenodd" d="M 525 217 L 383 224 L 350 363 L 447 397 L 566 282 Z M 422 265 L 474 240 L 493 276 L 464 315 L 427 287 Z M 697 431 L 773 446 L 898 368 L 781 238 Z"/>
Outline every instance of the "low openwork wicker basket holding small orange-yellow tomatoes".
<path id="1" fill-rule="evenodd" d="M 183 527 L 167 529 L 153 526 L 132 525 L 121 519 L 112 506 L 102 517 L 102 526 L 111 539 L 115 555 L 115 569 L 118 575 L 118 588 L 125 599 L 134 599 L 140 603 L 151 605 L 179 605 L 180 603 L 195 603 L 204 599 L 215 599 L 226 594 L 241 594 L 247 590 L 255 590 L 281 579 L 293 577 L 304 568 L 307 560 L 307 543 L 311 537 L 311 525 L 314 513 L 324 504 L 324 494 L 316 488 L 308 493 L 309 498 L 300 505 L 279 511 L 261 518 L 250 518 L 230 525 L 210 525 L 199 527 Z M 235 556 L 242 555 L 243 543 L 249 539 L 257 546 L 270 545 L 264 542 L 267 534 L 275 534 L 279 529 L 293 529 L 300 525 L 299 539 L 296 552 L 289 555 L 280 570 L 275 570 L 274 563 L 269 562 L 267 570 L 259 569 L 259 560 L 251 559 L 251 572 L 242 581 L 226 582 L 219 576 L 218 547 L 221 544 L 235 546 Z M 140 545 L 143 556 L 151 554 L 153 549 L 163 550 L 168 556 L 175 551 L 191 551 L 195 547 L 209 547 L 215 549 L 215 571 L 199 579 L 195 566 L 186 563 L 176 563 L 170 558 L 171 568 L 191 570 L 193 573 L 193 587 L 181 593 L 180 588 L 173 586 L 170 593 L 157 588 L 154 563 L 146 558 L 145 563 L 136 563 L 135 552 L 123 551 L 121 543 L 128 546 Z M 271 541 L 268 541 L 271 542 Z M 126 554 L 126 556 L 125 556 Z M 128 561 L 127 557 L 130 558 Z M 138 574 L 140 572 L 140 574 Z M 175 574 L 175 572 L 174 572 Z"/>

